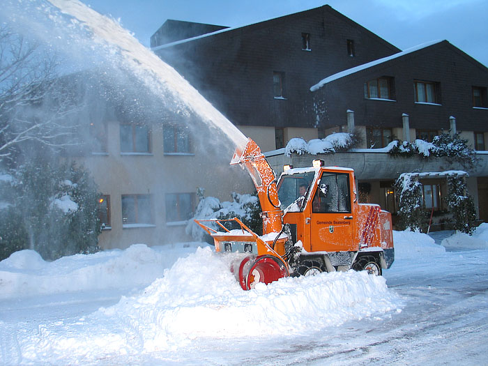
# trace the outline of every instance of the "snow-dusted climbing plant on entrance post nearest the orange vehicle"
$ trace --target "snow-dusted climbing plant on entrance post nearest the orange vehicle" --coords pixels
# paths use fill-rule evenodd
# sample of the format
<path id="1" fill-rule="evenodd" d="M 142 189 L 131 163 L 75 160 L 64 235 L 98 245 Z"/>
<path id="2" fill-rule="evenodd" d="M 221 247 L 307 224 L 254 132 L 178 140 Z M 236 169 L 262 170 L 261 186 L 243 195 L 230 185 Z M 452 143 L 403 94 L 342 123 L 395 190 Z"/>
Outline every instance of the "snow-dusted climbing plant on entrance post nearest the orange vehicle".
<path id="1" fill-rule="evenodd" d="M 427 212 L 423 208 L 422 183 L 418 176 L 404 173 L 395 182 L 395 194 L 399 197 L 399 222 L 400 230 L 422 230 L 426 227 Z"/>

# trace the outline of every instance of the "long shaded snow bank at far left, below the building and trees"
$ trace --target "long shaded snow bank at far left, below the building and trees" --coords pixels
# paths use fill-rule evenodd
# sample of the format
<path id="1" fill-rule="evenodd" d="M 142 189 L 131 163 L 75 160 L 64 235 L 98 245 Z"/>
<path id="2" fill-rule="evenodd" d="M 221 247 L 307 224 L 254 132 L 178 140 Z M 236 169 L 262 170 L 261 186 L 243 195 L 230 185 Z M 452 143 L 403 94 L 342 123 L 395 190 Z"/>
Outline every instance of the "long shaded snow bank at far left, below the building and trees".
<path id="1" fill-rule="evenodd" d="M 178 257 L 205 243 L 76 254 L 53 262 L 33 250 L 14 252 L 0 261 L 0 299 L 96 289 L 132 289 L 161 277 Z"/>

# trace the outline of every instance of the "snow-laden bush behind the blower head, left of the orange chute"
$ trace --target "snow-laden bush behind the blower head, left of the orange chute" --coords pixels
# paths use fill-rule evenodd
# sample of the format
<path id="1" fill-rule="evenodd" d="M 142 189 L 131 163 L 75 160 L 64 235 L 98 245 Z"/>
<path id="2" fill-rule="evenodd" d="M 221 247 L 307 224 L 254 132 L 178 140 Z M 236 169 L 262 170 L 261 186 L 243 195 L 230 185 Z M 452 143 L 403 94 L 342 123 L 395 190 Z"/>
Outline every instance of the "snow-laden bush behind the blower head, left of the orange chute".
<path id="1" fill-rule="evenodd" d="M 259 217 L 261 213 L 261 205 L 257 194 L 254 195 L 240 195 L 236 192 L 232 193 L 233 201 L 220 202 L 215 197 L 204 197 L 203 191 L 199 190 L 197 195 L 200 197 L 195 216 L 188 221 L 186 226 L 186 233 L 191 235 L 197 241 L 203 241 L 205 238 L 205 231 L 195 223 L 197 220 L 225 220 L 231 218 L 238 218 L 247 227 L 249 227 L 256 234 L 261 235 L 263 231 L 262 220 Z M 217 229 L 217 226 L 215 226 Z"/>

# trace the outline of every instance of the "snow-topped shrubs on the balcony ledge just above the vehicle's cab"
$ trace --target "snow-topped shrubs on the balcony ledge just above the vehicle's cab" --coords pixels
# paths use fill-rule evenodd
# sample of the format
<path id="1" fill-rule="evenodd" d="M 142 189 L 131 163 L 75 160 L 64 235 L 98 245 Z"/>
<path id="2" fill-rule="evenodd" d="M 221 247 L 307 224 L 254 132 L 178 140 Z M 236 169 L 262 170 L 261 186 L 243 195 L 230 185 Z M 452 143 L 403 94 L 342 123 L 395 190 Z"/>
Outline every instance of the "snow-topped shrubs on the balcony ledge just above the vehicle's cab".
<path id="1" fill-rule="evenodd" d="M 345 150 L 351 147 L 352 135 L 346 132 L 333 133 L 324 139 L 311 139 L 305 142 L 304 139 L 293 138 L 284 148 L 284 155 L 291 153 L 309 153 L 311 155 L 335 153 L 337 150 Z"/>

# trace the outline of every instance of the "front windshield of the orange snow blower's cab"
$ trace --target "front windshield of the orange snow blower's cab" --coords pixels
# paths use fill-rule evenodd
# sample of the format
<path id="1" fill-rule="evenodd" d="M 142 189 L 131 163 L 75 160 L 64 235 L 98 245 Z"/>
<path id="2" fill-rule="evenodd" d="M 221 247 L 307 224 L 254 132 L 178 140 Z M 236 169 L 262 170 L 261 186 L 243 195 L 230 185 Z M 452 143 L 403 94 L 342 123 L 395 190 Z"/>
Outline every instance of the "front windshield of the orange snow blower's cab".
<path id="1" fill-rule="evenodd" d="M 314 180 L 314 176 L 315 171 L 281 176 L 280 182 L 278 183 L 278 197 L 280 197 L 282 210 L 291 212 L 302 210 L 305 206 L 305 199 L 308 195 L 310 185 Z M 298 200 L 300 197 L 305 198 Z M 296 205 L 289 207 L 293 203 L 296 203 Z"/>

